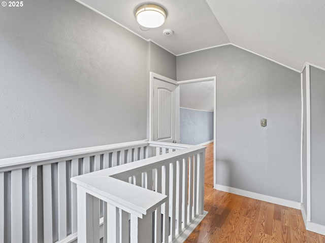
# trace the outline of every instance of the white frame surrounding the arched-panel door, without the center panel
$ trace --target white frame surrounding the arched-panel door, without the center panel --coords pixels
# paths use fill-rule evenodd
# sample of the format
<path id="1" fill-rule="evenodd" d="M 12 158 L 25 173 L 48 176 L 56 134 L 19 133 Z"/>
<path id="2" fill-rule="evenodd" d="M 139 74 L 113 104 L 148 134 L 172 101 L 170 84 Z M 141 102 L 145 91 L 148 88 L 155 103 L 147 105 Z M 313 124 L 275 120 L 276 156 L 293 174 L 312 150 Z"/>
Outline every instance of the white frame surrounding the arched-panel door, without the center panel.
<path id="1" fill-rule="evenodd" d="M 178 82 L 169 77 L 150 72 L 150 83 L 149 83 L 149 140 L 153 140 L 153 80 L 154 78 L 176 85 L 176 114 L 175 114 L 175 140 L 177 143 L 180 141 L 179 134 L 179 85 Z M 178 107 L 178 109 L 177 109 Z"/>

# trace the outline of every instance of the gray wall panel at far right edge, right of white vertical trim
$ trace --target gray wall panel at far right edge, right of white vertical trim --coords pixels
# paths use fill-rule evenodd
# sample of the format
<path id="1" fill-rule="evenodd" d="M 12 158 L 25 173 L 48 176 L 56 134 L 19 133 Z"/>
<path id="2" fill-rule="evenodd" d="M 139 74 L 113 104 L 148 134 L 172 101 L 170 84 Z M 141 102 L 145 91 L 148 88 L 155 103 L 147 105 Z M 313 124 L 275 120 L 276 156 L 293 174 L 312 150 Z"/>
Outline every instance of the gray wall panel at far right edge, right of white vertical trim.
<path id="1" fill-rule="evenodd" d="M 310 67 L 311 221 L 325 225 L 325 71 Z"/>

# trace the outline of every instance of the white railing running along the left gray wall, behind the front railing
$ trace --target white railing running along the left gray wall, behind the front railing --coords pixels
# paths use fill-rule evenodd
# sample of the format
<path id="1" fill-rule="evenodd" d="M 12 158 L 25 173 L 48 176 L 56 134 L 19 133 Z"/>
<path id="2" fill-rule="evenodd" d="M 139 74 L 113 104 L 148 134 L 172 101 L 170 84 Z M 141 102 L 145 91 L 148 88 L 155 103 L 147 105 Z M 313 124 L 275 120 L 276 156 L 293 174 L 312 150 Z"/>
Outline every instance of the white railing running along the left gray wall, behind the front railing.
<path id="1" fill-rule="evenodd" d="M 70 181 L 71 177 L 188 147 L 136 141 L 0 159 L 0 242 L 76 240 L 77 186 Z M 152 178 L 159 181 L 155 173 Z M 142 185 L 145 181 L 141 180 Z M 103 201 L 98 207 L 100 237 L 110 235 L 111 230 L 103 231 L 102 217 L 109 210 L 104 210 L 107 206 Z M 125 220 L 125 213 L 121 211 L 119 217 Z"/>

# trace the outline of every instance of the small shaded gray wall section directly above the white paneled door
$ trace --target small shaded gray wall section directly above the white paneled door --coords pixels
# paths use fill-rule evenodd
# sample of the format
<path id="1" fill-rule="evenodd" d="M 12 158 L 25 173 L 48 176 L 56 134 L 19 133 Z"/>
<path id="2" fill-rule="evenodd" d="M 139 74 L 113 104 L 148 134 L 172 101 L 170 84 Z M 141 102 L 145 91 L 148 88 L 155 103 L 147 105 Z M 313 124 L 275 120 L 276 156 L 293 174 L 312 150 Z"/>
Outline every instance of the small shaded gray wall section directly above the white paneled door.
<path id="1" fill-rule="evenodd" d="M 176 56 L 150 42 L 150 71 L 176 80 Z"/>

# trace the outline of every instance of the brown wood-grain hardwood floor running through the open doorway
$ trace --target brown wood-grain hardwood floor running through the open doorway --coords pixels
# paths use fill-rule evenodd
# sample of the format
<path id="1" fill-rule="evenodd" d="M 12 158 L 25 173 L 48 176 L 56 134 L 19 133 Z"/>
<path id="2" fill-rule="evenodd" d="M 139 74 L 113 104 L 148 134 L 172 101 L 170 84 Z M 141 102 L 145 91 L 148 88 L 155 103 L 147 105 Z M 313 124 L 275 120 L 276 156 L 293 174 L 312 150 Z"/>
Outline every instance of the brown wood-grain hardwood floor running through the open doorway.
<path id="1" fill-rule="evenodd" d="M 207 145 L 204 209 L 208 215 L 185 243 L 323 242 L 307 231 L 300 210 L 213 189 L 213 143 Z"/>

